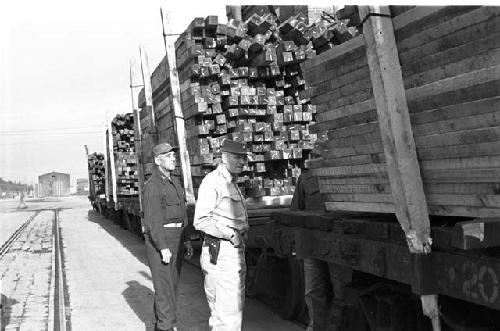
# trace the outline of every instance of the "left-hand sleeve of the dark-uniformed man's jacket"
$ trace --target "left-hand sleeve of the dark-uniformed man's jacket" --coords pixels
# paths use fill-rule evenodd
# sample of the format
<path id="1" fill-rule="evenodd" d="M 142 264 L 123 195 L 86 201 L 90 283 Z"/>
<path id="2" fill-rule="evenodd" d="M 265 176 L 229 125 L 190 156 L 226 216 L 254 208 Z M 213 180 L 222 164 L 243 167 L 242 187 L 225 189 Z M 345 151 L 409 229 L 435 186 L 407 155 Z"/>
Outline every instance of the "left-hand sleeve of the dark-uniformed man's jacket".
<path id="1" fill-rule="evenodd" d="M 163 228 L 163 210 L 161 208 L 160 190 L 154 183 L 148 183 L 144 194 L 144 220 L 146 233 L 158 250 L 167 248 L 166 233 Z"/>

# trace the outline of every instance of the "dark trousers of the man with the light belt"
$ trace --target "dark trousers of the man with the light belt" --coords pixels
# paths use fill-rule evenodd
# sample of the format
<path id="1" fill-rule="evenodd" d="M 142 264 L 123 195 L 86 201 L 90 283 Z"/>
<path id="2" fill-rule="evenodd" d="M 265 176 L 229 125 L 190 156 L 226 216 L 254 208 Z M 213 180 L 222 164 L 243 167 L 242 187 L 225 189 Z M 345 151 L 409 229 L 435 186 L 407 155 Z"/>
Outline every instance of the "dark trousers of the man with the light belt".
<path id="1" fill-rule="evenodd" d="M 163 230 L 167 233 L 168 248 L 172 252 L 169 264 L 162 262 L 161 253 L 153 245 L 149 236 L 146 235 L 145 241 L 155 290 L 156 327 L 168 330 L 177 321 L 177 285 L 184 258 L 184 243 L 181 240 L 182 228 L 163 228 Z"/>

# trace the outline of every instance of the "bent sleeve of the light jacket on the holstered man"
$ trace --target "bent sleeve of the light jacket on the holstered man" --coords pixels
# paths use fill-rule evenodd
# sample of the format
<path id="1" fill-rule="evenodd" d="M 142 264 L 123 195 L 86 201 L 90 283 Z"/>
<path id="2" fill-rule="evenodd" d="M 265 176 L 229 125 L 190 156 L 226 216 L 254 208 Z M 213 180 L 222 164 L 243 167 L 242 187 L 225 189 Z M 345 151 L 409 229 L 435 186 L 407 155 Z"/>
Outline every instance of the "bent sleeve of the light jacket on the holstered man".
<path id="1" fill-rule="evenodd" d="M 206 177 L 205 177 L 206 178 Z M 221 239 L 231 239 L 234 229 L 222 225 L 213 218 L 217 205 L 218 192 L 215 183 L 203 180 L 198 190 L 198 200 L 194 212 L 193 225 L 195 229 Z"/>

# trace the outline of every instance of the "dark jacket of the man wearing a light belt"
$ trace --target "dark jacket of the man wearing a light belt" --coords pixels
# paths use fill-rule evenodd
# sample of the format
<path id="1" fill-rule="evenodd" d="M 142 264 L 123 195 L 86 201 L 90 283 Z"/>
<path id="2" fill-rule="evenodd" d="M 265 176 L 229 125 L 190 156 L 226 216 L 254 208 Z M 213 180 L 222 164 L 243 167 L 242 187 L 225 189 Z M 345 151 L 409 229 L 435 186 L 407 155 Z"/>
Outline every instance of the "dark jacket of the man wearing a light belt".
<path id="1" fill-rule="evenodd" d="M 145 235 L 158 250 L 167 248 L 168 228 L 164 224 L 183 222 L 185 228 L 188 225 L 186 199 L 179 179 L 171 176 L 169 180 L 157 166 L 144 185 L 143 209 Z"/>

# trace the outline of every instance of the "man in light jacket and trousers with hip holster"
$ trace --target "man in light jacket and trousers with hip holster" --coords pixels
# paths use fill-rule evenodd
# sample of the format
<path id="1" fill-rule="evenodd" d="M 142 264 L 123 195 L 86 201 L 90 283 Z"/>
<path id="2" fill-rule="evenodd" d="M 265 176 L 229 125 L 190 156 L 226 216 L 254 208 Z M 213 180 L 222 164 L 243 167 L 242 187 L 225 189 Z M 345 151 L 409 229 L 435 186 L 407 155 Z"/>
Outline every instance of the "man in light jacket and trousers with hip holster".
<path id="1" fill-rule="evenodd" d="M 222 164 L 203 179 L 198 191 L 193 224 L 205 233 L 200 262 L 212 331 L 241 330 L 248 216 L 237 179 L 246 162 L 246 144 L 226 140 Z"/>

